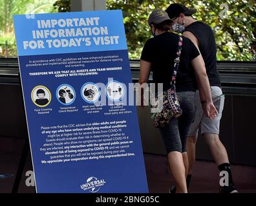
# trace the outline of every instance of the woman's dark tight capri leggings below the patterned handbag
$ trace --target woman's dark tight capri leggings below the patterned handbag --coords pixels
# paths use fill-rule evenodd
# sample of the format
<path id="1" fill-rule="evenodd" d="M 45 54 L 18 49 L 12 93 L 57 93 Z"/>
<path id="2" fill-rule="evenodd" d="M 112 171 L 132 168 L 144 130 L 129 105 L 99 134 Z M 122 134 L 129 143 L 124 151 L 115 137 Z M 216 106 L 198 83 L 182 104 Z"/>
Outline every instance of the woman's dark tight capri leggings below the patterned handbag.
<path id="1" fill-rule="evenodd" d="M 160 127 L 160 133 L 164 140 L 167 154 L 173 151 L 186 152 L 186 139 L 189 126 L 195 117 L 195 92 L 177 92 L 178 102 L 182 109 L 182 115 L 171 120 L 169 124 Z"/>

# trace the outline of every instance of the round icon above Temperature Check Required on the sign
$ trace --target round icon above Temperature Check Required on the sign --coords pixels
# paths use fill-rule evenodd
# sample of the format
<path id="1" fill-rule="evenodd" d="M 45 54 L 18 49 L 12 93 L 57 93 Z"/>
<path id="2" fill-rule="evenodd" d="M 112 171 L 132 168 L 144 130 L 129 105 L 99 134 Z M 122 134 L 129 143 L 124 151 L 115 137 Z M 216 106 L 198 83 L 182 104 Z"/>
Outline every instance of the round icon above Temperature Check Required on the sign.
<path id="1" fill-rule="evenodd" d="M 61 84 L 56 90 L 56 97 L 63 105 L 70 105 L 76 99 L 76 92 L 69 84 Z"/>

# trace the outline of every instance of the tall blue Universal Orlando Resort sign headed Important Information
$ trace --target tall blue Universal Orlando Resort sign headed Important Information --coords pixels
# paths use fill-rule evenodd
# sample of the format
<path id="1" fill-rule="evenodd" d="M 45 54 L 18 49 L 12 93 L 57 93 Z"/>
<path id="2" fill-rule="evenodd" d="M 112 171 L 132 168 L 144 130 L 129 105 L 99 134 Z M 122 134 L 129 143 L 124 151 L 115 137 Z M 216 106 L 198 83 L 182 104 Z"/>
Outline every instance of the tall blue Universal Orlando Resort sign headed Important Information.
<path id="1" fill-rule="evenodd" d="M 148 192 L 122 11 L 14 26 L 36 191 Z"/>

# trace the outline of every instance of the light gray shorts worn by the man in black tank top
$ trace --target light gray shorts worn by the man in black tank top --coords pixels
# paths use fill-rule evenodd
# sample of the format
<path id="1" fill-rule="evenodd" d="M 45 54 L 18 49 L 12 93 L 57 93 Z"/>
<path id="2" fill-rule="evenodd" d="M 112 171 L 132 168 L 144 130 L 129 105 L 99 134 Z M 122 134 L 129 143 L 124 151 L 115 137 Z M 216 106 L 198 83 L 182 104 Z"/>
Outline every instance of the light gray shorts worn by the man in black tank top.
<path id="1" fill-rule="evenodd" d="M 199 126 L 201 126 L 201 134 L 211 133 L 219 135 L 220 118 L 224 108 L 225 97 L 222 95 L 222 90 L 218 86 L 211 86 L 211 98 L 213 98 L 213 104 L 218 111 L 218 115 L 214 118 L 214 120 L 211 120 L 209 117 L 207 117 L 202 110 L 199 91 L 197 90 L 195 96 L 195 119 L 189 128 L 188 136 L 196 136 Z"/>

